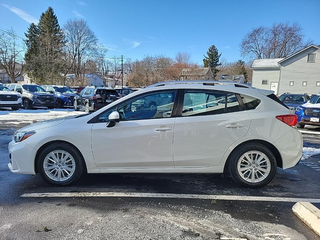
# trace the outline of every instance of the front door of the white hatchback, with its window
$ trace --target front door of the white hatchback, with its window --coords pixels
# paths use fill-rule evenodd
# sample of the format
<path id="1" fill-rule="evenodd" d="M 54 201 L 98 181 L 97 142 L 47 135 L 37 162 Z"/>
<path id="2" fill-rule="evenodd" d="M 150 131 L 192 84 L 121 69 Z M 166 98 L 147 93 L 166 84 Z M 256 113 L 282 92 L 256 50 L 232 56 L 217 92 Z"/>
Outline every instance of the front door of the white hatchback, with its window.
<path id="1" fill-rule="evenodd" d="M 172 110 L 176 90 L 164 91 L 172 101 L 149 108 L 143 101 L 155 93 L 144 93 L 119 103 L 92 124 L 92 153 L 100 169 L 173 168 L 172 140 L 175 117 Z M 106 127 L 108 116 L 117 110 L 120 122 Z"/>

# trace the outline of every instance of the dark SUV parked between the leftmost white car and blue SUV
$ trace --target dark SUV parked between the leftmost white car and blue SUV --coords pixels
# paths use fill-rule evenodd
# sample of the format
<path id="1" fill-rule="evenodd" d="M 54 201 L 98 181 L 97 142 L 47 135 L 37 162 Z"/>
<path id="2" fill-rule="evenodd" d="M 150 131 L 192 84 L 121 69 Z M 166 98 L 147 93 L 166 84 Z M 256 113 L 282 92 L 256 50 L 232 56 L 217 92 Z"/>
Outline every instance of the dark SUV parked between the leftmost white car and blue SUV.
<path id="1" fill-rule="evenodd" d="M 55 108 L 57 104 L 57 97 L 46 92 L 37 84 L 8 84 L 7 87 L 16 92 L 21 93 L 22 104 L 25 109 L 32 109 L 32 107 L 47 107 L 49 109 Z"/>

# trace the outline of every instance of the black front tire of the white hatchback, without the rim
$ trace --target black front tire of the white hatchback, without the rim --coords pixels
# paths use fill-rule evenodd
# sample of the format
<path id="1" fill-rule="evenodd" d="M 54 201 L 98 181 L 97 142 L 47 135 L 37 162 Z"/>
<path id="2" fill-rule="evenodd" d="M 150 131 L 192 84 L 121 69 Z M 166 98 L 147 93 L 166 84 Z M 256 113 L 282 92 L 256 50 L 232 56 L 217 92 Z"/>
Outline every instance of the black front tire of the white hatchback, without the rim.
<path id="1" fill-rule="evenodd" d="M 73 159 L 75 161 L 74 173 L 67 180 L 59 181 L 59 182 L 56 180 L 52 180 L 51 178 L 49 178 L 47 176 L 47 174 L 44 171 L 44 160 L 45 160 L 46 156 L 54 150 L 63 150 L 63 151 L 68 152 L 73 157 Z M 55 144 L 51 144 L 48 147 L 44 148 L 39 155 L 37 167 L 38 167 L 38 172 L 40 173 L 42 179 L 53 186 L 70 185 L 70 184 L 76 182 L 82 176 L 82 174 L 85 170 L 84 159 L 81 156 L 80 151 L 68 143 L 58 143 L 58 144 L 55 143 Z"/>

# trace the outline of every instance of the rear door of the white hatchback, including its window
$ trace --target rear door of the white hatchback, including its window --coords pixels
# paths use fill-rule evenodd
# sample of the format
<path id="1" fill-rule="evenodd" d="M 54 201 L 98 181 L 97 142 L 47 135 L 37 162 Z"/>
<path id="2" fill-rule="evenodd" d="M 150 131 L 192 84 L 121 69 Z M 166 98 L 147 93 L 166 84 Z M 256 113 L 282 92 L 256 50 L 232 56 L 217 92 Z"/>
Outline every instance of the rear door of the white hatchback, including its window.
<path id="1" fill-rule="evenodd" d="M 175 168 L 219 164 L 229 146 L 248 132 L 251 122 L 233 93 L 186 90 L 179 112 L 173 135 Z"/>

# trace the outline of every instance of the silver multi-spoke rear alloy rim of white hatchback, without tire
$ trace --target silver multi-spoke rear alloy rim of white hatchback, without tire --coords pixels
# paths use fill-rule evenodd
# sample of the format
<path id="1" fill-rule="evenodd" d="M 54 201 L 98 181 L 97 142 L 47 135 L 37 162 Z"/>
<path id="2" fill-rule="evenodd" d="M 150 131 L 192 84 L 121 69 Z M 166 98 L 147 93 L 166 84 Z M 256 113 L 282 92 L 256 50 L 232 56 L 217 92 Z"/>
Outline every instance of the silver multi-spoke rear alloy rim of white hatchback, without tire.
<path id="1" fill-rule="evenodd" d="M 260 151 L 249 151 L 240 157 L 237 170 L 242 179 L 247 182 L 260 182 L 270 172 L 270 160 Z"/>

